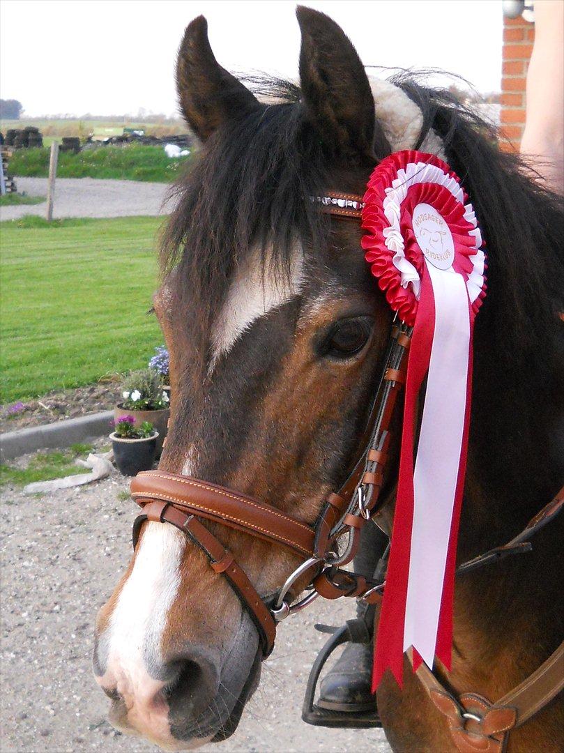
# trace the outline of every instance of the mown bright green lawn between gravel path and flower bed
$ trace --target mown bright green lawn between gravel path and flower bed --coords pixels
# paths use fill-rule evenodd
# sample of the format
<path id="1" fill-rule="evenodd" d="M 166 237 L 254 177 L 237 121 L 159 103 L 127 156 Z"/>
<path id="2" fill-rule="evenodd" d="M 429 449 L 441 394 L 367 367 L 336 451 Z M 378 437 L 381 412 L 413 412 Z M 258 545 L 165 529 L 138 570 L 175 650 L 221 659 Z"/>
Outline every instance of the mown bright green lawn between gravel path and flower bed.
<path id="1" fill-rule="evenodd" d="M 2 403 L 147 364 L 163 342 L 147 314 L 162 221 L 2 222 Z"/>

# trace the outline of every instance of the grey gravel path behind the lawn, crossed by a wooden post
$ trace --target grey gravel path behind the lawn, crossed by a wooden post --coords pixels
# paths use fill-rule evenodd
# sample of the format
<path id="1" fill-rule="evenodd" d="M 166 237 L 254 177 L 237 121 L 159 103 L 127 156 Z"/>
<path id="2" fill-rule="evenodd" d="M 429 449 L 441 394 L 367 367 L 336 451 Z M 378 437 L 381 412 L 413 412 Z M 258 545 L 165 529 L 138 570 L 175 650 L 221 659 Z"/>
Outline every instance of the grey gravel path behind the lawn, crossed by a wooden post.
<path id="1" fill-rule="evenodd" d="M 29 196 L 47 196 L 47 178 L 16 178 L 18 191 Z M 167 183 L 57 178 L 53 217 L 133 217 L 160 215 Z M 0 207 L 0 221 L 23 215 L 45 216 L 47 203 Z"/>

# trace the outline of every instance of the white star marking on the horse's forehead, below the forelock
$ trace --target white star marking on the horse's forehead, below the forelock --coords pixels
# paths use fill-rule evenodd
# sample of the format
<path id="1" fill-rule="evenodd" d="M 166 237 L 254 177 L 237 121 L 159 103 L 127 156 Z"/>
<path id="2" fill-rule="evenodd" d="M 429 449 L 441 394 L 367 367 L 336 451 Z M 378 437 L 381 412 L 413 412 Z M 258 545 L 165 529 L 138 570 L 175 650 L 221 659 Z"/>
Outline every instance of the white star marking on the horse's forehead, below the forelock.
<path id="1" fill-rule="evenodd" d="M 212 360 L 209 370 L 222 353 L 229 351 L 239 336 L 256 319 L 288 303 L 300 292 L 302 283 L 303 253 L 296 250 L 291 261 L 290 279 L 276 279 L 269 270 L 268 261 L 261 264 L 258 252 L 236 271 L 227 294 L 227 300 L 215 322 L 212 333 Z"/>

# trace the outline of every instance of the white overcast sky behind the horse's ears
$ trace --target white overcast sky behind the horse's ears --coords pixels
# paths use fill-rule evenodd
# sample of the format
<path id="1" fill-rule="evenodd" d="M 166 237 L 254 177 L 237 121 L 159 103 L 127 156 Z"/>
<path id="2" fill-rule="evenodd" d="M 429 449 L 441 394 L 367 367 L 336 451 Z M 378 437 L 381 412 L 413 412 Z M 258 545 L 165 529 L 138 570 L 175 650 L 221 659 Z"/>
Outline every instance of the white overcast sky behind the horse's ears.
<path id="1" fill-rule="evenodd" d="M 364 65 L 436 66 L 499 90 L 501 0 L 319 0 Z M 293 0 L 2 0 L 0 96 L 29 116 L 172 114 L 175 53 L 197 15 L 221 65 L 297 77 Z"/>

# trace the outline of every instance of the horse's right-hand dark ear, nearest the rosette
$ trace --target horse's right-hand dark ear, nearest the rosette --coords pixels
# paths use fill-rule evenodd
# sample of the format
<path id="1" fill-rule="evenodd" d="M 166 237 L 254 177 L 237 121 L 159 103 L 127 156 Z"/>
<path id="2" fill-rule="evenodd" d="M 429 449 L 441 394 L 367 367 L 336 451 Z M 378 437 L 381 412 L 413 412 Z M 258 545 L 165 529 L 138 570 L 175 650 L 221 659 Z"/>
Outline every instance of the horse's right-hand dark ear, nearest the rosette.
<path id="1" fill-rule="evenodd" d="M 374 99 L 361 59 L 331 18 L 298 6 L 300 84 L 309 122 L 337 159 L 375 161 Z"/>

